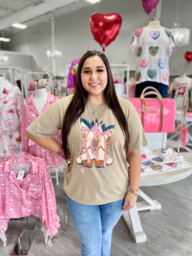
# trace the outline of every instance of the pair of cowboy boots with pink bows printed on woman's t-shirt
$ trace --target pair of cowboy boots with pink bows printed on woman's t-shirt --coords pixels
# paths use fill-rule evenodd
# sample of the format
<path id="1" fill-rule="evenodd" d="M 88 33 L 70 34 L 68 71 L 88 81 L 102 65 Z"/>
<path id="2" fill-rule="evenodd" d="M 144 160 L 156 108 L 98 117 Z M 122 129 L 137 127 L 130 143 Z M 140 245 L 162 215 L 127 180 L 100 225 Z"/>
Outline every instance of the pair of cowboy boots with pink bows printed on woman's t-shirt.
<path id="1" fill-rule="evenodd" d="M 77 157 L 76 163 L 88 168 L 93 166 L 93 161 L 95 161 L 97 168 L 106 168 L 107 165 L 111 165 L 113 160 L 108 156 L 108 145 L 115 125 L 106 127 L 104 122 L 98 124 L 97 119 L 94 119 L 90 124 L 85 119 L 80 118 L 79 126 L 83 140 L 81 154 Z"/>

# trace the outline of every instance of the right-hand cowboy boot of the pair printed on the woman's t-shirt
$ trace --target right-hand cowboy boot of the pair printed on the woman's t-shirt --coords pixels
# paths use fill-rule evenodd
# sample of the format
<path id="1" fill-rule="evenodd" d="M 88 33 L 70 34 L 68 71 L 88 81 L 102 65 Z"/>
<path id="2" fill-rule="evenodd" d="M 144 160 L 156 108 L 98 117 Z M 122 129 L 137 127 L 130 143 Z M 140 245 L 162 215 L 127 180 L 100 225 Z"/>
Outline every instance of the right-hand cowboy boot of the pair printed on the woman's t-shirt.
<path id="1" fill-rule="evenodd" d="M 114 131 L 115 125 L 105 127 L 104 122 L 100 122 L 99 130 L 97 131 L 95 157 L 95 166 L 98 168 L 106 168 L 107 165 L 113 163 L 113 160 L 108 155 L 108 145 Z"/>

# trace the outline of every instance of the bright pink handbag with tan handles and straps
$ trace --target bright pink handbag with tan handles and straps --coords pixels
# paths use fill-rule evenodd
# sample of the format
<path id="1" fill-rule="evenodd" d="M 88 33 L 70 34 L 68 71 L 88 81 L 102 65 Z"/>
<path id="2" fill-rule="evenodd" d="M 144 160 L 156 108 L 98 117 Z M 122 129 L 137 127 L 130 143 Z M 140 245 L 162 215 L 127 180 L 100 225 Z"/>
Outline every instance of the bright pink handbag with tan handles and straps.
<path id="1" fill-rule="evenodd" d="M 152 91 L 146 92 L 147 89 Z M 154 94 L 156 98 L 145 98 Z M 174 132 L 175 131 L 175 100 L 162 99 L 159 91 L 148 86 L 140 98 L 128 99 L 138 112 L 145 132 Z"/>

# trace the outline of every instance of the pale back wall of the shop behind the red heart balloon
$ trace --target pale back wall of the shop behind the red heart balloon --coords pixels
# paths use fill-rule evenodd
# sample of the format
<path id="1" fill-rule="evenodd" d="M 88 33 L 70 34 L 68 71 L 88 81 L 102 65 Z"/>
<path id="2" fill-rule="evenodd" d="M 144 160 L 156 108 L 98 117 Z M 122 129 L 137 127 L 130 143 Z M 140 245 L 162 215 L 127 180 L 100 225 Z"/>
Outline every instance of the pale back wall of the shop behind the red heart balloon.
<path id="1" fill-rule="evenodd" d="M 179 23 L 192 29 L 190 11 L 191 0 L 182 0 L 179 6 Z M 163 0 L 161 25 L 170 28 L 175 22 L 175 0 Z M 136 56 L 131 55 L 130 44 L 132 33 L 143 26 L 147 26 L 149 17 L 143 10 L 141 0 L 102 0 L 87 8 L 77 10 L 68 15 L 55 19 L 55 41 L 57 49 L 63 52 L 63 59 L 57 61 L 57 75 L 65 74 L 65 66 L 83 55 L 86 49 L 102 51 L 100 45 L 93 39 L 89 27 L 89 18 L 94 12 L 113 13 L 122 17 L 122 27 L 115 41 L 106 47 L 106 56 L 113 64 L 129 63 L 130 70 L 136 67 Z M 170 74 L 177 75 L 190 70 L 184 58 L 185 51 L 191 51 L 192 44 L 174 51 L 170 57 Z M 51 49 L 51 24 L 42 23 L 11 36 L 11 42 L 6 49 L 31 54 L 38 67 L 45 67 L 49 72 L 52 61 L 47 59 L 46 51 Z M 38 71 L 38 70 L 34 70 Z"/>

